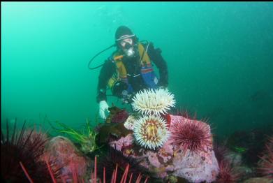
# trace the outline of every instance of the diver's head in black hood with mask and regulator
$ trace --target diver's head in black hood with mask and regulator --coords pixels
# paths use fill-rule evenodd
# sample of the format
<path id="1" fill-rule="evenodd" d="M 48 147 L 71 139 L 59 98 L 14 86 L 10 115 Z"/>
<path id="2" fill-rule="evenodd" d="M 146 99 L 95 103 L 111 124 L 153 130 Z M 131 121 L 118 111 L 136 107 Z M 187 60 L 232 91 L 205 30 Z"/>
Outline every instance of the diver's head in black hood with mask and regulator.
<path id="1" fill-rule="evenodd" d="M 135 44 L 137 42 L 135 34 L 125 26 L 120 26 L 116 31 L 116 45 L 124 52 L 126 57 L 135 56 Z"/>

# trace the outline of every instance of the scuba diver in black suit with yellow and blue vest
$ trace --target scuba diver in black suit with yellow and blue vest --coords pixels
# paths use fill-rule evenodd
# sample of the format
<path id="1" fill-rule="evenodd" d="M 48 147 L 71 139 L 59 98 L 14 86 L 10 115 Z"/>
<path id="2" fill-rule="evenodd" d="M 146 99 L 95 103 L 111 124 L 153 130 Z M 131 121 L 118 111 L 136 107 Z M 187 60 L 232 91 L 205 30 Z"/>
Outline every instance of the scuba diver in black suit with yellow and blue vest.
<path id="1" fill-rule="evenodd" d="M 123 103 L 131 103 L 133 95 L 141 89 L 168 87 L 167 64 L 153 43 L 138 41 L 131 29 L 120 26 L 115 33 L 115 46 L 117 50 L 101 65 L 98 76 L 96 101 L 102 119 L 106 119 L 105 113 L 109 112 L 107 87 Z M 158 68 L 159 78 L 152 63 Z"/>

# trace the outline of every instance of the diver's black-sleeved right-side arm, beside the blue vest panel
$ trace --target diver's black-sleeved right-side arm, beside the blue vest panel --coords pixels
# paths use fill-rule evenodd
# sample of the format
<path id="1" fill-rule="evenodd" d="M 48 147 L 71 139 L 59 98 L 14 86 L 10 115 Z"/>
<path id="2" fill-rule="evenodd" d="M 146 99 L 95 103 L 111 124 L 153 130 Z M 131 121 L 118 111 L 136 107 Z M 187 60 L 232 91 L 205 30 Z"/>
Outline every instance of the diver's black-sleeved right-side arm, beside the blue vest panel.
<path id="1" fill-rule="evenodd" d="M 159 48 L 155 49 L 154 44 L 150 42 L 147 53 L 159 70 L 160 78 L 158 81 L 158 85 L 161 87 L 168 87 L 168 66 L 161 55 L 161 50 Z"/>

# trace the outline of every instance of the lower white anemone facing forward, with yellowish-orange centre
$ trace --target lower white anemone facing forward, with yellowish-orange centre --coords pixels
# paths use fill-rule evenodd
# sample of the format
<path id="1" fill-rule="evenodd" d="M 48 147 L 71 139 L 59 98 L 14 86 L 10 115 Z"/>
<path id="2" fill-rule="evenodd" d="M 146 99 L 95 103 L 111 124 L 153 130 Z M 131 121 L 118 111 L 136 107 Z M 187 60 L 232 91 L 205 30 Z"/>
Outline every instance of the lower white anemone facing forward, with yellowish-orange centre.
<path id="1" fill-rule="evenodd" d="M 155 150 L 163 146 L 170 133 L 163 118 L 156 115 L 144 115 L 135 122 L 133 135 L 140 146 Z"/>

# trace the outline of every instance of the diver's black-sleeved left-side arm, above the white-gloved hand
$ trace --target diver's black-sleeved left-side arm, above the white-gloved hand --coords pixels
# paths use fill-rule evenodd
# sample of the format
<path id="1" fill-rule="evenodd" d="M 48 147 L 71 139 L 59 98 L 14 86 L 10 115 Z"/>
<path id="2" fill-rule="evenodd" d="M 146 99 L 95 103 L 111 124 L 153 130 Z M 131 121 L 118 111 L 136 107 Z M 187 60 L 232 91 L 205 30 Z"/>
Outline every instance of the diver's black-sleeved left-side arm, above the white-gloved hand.
<path id="1" fill-rule="evenodd" d="M 97 86 L 97 96 L 96 102 L 107 101 L 106 98 L 106 86 L 108 80 L 115 73 L 115 63 L 110 60 L 106 60 L 101 68 L 100 74 L 98 75 L 98 86 Z"/>

